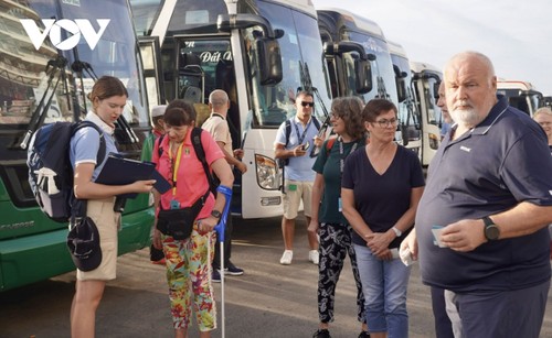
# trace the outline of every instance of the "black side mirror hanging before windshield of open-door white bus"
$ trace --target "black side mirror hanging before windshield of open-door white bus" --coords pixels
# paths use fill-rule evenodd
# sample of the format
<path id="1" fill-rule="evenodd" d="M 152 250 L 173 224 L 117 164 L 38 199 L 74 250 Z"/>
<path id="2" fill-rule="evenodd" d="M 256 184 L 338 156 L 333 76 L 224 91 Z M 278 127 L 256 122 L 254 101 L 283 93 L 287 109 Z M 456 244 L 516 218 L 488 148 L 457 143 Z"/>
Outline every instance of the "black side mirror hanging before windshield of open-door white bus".
<path id="1" fill-rule="evenodd" d="M 275 86 L 282 81 L 282 54 L 276 39 L 257 37 L 256 65 L 263 86 Z"/>

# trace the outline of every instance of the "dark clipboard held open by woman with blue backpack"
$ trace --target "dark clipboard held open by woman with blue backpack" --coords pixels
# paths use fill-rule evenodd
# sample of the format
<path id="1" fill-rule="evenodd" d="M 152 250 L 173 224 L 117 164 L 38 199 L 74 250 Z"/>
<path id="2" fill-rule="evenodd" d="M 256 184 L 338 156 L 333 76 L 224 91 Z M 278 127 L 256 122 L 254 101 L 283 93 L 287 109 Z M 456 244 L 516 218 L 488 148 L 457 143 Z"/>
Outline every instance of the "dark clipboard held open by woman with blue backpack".
<path id="1" fill-rule="evenodd" d="M 125 185 L 144 179 L 156 179 L 153 188 L 160 194 L 167 193 L 171 187 L 170 183 L 156 170 L 153 163 L 124 159 L 113 153 L 107 156 L 96 183 Z M 119 197 L 124 198 L 135 198 L 136 196 L 138 196 L 137 193 L 119 195 Z"/>

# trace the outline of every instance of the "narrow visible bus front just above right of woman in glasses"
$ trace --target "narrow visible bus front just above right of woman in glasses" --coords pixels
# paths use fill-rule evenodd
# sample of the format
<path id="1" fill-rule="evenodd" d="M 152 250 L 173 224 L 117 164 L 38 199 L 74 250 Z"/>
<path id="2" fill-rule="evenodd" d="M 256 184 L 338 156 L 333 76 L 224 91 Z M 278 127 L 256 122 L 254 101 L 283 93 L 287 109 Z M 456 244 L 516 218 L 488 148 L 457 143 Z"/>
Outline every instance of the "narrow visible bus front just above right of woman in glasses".
<path id="1" fill-rule="evenodd" d="M 388 45 L 395 73 L 399 119 L 403 128 L 403 144 L 416 152 L 420 161 L 422 161 L 424 152 L 422 130 L 427 128 L 427 120 L 422 117 L 414 100 L 412 72 L 406 51 L 395 42 L 388 41 Z"/>

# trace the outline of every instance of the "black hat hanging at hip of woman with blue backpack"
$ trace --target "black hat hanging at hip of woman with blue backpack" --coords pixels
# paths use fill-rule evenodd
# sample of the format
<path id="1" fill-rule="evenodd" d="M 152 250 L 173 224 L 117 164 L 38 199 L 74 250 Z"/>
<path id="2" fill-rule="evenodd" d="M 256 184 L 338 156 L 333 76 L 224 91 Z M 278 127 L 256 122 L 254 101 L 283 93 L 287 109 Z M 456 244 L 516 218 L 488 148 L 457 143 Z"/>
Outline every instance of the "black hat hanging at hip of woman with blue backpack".
<path id="1" fill-rule="evenodd" d="M 73 263 L 81 271 L 92 271 L 102 263 L 98 228 L 89 217 L 83 217 L 76 225 L 70 226 L 67 247 Z"/>

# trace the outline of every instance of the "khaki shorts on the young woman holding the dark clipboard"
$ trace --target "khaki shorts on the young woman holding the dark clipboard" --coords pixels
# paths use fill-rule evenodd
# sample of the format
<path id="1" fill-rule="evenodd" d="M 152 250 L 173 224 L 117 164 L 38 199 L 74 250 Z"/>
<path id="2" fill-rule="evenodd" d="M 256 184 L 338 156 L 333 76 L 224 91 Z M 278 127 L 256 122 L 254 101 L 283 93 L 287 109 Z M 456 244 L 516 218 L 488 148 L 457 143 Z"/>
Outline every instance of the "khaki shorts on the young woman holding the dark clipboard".
<path id="1" fill-rule="evenodd" d="M 88 200 L 86 214 L 94 220 L 99 232 L 102 263 L 93 271 L 76 270 L 79 281 L 109 281 L 117 274 L 117 216 L 113 210 L 115 198 Z"/>

